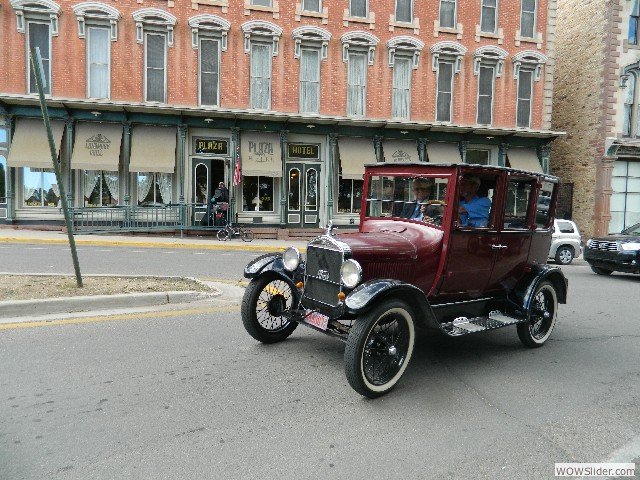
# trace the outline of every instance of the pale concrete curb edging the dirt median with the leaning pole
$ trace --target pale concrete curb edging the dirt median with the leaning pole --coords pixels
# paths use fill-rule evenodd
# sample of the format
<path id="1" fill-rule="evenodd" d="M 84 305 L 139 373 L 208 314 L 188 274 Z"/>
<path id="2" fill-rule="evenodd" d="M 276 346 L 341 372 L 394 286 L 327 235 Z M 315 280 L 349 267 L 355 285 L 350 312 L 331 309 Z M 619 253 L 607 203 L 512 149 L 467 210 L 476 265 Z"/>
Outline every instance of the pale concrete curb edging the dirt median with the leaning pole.
<path id="1" fill-rule="evenodd" d="M 176 291 L 10 300 L 0 302 L 0 320 L 26 316 L 111 310 L 115 308 L 152 307 L 195 302 L 211 297 L 219 297 L 220 295 L 222 295 L 222 292 L 219 289 L 212 288 L 211 292 Z"/>

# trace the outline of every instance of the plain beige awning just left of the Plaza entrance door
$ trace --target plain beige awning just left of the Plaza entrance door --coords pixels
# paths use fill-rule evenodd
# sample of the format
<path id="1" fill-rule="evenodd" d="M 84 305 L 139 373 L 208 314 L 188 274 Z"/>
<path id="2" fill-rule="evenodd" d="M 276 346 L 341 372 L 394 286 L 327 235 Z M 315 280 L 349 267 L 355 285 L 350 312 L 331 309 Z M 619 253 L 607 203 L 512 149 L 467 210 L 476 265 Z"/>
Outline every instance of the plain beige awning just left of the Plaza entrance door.
<path id="1" fill-rule="evenodd" d="M 175 127 L 133 127 L 129 171 L 173 173 L 176 168 L 176 133 Z"/>

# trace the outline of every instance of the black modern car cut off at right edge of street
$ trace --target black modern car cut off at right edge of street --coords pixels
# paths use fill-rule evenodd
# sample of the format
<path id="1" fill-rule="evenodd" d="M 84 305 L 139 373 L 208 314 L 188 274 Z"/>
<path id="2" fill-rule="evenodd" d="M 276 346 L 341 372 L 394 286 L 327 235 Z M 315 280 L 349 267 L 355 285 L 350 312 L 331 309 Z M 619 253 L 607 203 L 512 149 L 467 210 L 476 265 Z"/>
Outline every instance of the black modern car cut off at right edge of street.
<path id="1" fill-rule="evenodd" d="M 620 233 L 590 239 L 584 259 L 598 275 L 640 273 L 640 223 Z"/>

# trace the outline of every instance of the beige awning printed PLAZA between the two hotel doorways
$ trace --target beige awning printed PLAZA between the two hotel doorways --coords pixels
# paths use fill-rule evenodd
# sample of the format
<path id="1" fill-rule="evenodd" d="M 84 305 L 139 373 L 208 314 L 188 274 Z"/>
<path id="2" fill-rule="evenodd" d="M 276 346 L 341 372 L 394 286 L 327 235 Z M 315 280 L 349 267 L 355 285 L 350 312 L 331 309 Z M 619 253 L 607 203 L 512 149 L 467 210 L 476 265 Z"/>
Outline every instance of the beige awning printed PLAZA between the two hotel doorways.
<path id="1" fill-rule="evenodd" d="M 282 177 L 280 134 L 243 132 L 240 137 L 240 161 L 245 177 Z"/>

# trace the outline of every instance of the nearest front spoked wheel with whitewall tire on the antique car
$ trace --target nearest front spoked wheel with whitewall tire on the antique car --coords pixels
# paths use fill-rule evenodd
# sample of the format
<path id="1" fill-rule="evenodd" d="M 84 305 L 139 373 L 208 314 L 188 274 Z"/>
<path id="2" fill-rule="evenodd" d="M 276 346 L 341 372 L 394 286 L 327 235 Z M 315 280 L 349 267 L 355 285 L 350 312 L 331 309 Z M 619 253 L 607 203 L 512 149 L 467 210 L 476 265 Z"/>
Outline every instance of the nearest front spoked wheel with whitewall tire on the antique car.
<path id="1" fill-rule="evenodd" d="M 349 332 L 344 351 L 349 385 L 365 397 L 384 395 L 402 377 L 414 344 L 411 309 L 400 300 L 382 301 Z"/>

